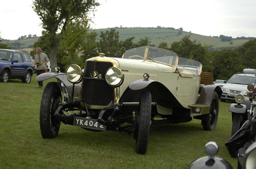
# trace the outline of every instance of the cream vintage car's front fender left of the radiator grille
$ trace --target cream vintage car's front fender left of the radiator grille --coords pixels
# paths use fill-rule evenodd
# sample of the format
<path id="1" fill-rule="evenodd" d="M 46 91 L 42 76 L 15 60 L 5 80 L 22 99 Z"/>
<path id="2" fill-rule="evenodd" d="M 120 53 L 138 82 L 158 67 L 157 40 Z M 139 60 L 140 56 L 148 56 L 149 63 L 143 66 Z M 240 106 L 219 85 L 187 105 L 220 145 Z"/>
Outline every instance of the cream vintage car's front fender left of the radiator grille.
<path id="1" fill-rule="evenodd" d="M 44 81 L 44 80 L 51 79 L 52 77 L 58 79 L 59 81 L 61 81 L 63 83 L 63 85 L 66 87 L 67 94 L 70 99 L 71 95 L 72 95 L 73 83 L 71 83 L 67 80 L 67 76 L 65 73 L 53 73 L 53 72 L 52 73 L 42 73 L 42 74 L 38 75 L 35 79 L 37 81 Z M 59 87 L 60 87 L 61 91 L 63 91 L 61 85 L 59 85 Z M 80 90 L 81 90 L 81 82 L 78 84 L 75 84 L 74 98 L 78 98 Z"/>

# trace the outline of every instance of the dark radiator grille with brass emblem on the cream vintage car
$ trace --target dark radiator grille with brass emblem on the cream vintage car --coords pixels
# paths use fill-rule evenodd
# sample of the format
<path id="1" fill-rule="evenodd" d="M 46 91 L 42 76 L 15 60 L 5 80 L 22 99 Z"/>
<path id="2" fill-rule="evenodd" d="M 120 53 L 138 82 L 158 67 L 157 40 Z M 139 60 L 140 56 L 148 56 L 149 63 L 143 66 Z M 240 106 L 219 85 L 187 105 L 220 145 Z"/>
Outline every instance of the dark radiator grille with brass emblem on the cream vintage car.
<path id="1" fill-rule="evenodd" d="M 81 92 L 81 98 L 87 105 L 108 106 L 113 100 L 114 88 L 105 80 L 105 73 L 111 67 L 111 62 L 87 62 Z"/>

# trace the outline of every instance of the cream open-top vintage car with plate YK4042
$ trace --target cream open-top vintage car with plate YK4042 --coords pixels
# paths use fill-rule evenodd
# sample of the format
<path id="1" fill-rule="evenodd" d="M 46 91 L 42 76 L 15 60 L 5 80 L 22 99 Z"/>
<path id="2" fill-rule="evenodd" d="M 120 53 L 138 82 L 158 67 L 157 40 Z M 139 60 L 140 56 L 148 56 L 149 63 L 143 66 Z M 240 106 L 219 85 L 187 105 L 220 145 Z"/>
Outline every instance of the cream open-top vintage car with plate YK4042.
<path id="1" fill-rule="evenodd" d="M 55 73 L 37 77 L 60 82 L 44 89 L 41 134 L 56 137 L 61 122 L 91 131 L 124 131 L 134 135 L 135 151 L 145 154 L 151 125 L 196 118 L 204 130 L 213 130 L 222 91 L 201 85 L 201 71 L 200 62 L 151 46 L 130 49 L 122 58 L 100 54 L 87 59 L 84 73 L 78 65 L 70 65 L 66 74 L 56 67 Z"/>

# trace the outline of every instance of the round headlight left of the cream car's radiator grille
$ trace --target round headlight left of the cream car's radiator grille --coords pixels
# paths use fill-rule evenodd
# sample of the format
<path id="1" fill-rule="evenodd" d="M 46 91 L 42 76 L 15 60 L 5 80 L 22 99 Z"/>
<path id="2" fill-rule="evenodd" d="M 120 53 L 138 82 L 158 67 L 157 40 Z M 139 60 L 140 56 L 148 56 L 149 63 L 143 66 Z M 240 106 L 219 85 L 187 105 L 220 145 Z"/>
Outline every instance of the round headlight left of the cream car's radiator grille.
<path id="1" fill-rule="evenodd" d="M 70 65 L 66 69 L 67 80 L 71 83 L 78 82 L 82 77 L 82 70 L 79 65 Z"/>

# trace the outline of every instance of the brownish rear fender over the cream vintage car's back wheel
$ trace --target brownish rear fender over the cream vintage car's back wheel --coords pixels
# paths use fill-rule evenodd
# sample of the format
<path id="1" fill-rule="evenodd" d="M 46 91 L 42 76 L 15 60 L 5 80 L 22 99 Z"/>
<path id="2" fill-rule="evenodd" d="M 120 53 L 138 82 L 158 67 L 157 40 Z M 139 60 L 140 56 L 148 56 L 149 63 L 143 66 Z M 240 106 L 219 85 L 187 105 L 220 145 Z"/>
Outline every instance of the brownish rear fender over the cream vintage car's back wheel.
<path id="1" fill-rule="evenodd" d="M 198 98 L 197 104 L 211 104 L 212 102 L 212 95 L 216 92 L 218 94 L 218 99 L 221 98 L 221 87 L 216 85 L 205 85 L 203 86 L 200 96 Z"/>

